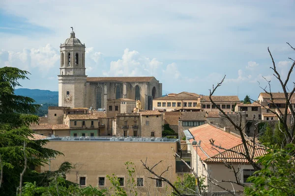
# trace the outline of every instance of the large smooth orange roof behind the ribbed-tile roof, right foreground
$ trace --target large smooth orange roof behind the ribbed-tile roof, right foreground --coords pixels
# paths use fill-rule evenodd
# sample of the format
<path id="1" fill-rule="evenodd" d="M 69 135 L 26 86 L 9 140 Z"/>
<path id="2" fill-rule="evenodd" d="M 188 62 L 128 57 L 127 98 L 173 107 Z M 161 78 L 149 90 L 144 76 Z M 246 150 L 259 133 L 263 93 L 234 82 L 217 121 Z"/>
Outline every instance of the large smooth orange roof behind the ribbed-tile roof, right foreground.
<path id="1" fill-rule="evenodd" d="M 198 149 L 198 155 L 202 160 L 206 160 L 207 158 L 213 157 L 214 155 L 218 154 L 219 152 L 223 152 L 225 150 L 219 149 L 218 151 L 212 148 L 210 144 L 210 139 L 213 139 L 215 142 L 214 144 L 220 145 L 221 147 L 230 149 L 232 147 L 236 147 L 237 145 L 241 144 L 241 139 L 234 136 L 231 133 L 227 133 L 225 131 L 216 128 L 210 124 L 203 124 L 201 126 L 196 126 L 189 129 L 192 135 L 195 137 L 196 141 L 201 140 L 201 148 L 205 151 Z M 193 139 L 190 140 L 192 143 Z"/>

